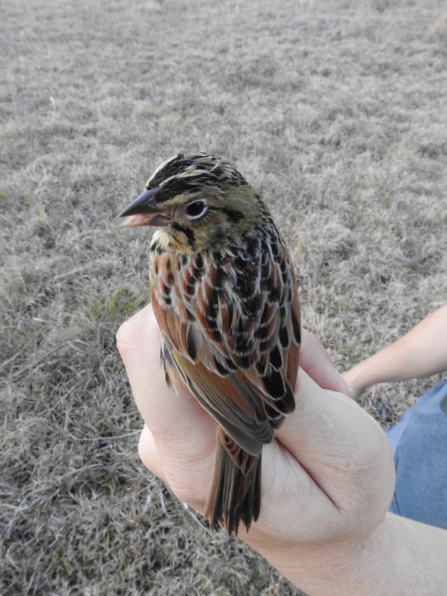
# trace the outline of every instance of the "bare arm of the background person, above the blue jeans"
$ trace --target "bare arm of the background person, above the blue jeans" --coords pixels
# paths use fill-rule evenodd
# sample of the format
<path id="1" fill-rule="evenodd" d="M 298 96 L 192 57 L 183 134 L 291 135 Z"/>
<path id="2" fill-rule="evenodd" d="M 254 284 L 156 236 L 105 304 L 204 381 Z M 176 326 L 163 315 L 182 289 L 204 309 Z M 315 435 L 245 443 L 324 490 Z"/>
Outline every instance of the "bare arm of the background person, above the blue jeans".
<path id="1" fill-rule="evenodd" d="M 447 305 L 433 312 L 405 336 L 359 362 L 343 378 L 355 397 L 367 387 L 447 370 Z"/>

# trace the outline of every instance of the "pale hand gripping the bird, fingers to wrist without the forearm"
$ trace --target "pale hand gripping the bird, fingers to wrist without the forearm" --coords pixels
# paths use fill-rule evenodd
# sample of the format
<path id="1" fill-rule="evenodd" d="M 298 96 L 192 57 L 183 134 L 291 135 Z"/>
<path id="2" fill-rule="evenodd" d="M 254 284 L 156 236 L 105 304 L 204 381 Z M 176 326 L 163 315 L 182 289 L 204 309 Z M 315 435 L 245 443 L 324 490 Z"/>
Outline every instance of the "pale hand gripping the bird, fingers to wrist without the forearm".
<path id="1" fill-rule="evenodd" d="M 123 324 L 117 343 L 145 421 L 142 461 L 179 499 L 203 511 L 215 421 L 187 390 L 176 396 L 166 386 L 150 306 Z M 387 439 L 373 418 L 335 393 L 347 388 L 311 334 L 303 338 L 301 364 L 296 409 L 263 449 L 260 517 L 249 535 L 240 534 L 251 544 L 267 537 L 306 544 L 366 534 L 392 498 L 394 465 Z"/>

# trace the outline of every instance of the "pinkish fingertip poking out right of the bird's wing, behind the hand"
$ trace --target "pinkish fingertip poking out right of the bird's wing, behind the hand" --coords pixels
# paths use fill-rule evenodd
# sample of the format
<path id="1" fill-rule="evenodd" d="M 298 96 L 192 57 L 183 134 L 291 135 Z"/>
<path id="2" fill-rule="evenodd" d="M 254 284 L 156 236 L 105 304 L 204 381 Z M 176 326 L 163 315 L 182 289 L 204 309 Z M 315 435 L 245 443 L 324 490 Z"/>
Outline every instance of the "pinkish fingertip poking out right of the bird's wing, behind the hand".
<path id="1" fill-rule="evenodd" d="M 353 396 L 352 387 L 334 367 L 319 339 L 307 330 L 303 330 L 300 366 L 322 389 Z"/>

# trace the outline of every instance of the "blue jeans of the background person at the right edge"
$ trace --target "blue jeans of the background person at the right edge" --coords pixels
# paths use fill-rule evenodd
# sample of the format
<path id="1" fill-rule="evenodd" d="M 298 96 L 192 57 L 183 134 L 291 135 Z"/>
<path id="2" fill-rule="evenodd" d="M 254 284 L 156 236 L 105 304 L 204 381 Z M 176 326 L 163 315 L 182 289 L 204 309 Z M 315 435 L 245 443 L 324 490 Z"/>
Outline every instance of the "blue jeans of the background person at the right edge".
<path id="1" fill-rule="evenodd" d="M 396 466 L 390 511 L 447 529 L 447 381 L 424 393 L 386 433 Z"/>

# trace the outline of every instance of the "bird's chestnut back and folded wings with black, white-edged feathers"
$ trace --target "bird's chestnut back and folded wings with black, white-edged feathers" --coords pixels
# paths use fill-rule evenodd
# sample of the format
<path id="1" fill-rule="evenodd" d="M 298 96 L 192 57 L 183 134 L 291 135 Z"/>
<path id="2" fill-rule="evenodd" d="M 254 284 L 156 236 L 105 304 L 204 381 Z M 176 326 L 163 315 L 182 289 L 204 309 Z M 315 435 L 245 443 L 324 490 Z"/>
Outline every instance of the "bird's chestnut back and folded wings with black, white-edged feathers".
<path id="1" fill-rule="evenodd" d="M 151 271 L 170 362 L 229 436 L 260 452 L 294 409 L 300 349 L 296 279 L 276 228 L 213 254 L 155 254 Z"/>

